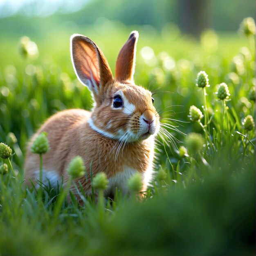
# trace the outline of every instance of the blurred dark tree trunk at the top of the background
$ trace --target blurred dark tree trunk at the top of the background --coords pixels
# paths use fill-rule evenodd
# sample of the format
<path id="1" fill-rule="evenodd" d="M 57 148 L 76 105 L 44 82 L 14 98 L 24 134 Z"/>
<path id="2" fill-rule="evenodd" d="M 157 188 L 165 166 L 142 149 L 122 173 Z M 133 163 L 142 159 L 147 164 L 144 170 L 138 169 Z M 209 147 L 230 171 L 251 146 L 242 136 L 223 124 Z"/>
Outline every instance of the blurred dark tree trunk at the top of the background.
<path id="1" fill-rule="evenodd" d="M 186 33 L 199 36 L 212 27 L 212 0 L 178 0 L 179 26 Z"/>

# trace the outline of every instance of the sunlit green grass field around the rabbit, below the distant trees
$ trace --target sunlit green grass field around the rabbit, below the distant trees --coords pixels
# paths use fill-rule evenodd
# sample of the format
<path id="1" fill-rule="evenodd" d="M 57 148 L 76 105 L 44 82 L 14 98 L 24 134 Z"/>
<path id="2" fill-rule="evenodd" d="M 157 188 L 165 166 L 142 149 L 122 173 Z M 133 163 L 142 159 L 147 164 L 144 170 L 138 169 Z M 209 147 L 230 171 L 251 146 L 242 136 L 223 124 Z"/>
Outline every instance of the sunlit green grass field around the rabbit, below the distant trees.
<path id="1" fill-rule="evenodd" d="M 155 92 L 162 127 L 171 134 L 157 137 L 152 186 L 143 202 L 117 193 L 111 204 L 95 204 L 81 191 L 83 206 L 73 198 L 58 211 L 58 192 L 38 196 L 22 186 L 22 174 L 27 141 L 48 117 L 92 108 L 90 92 L 72 68 L 69 37 L 81 33 L 94 40 L 114 72 L 133 29 L 140 33 L 135 83 Z M 254 117 L 254 38 L 208 31 L 195 40 L 171 25 L 159 32 L 112 22 L 30 39 L 37 58 L 21 54 L 19 37 L 0 41 L 0 142 L 15 153 L 16 176 L 1 159 L 8 172 L 0 173 L 0 255 L 255 253 L 255 135 L 243 124 L 247 115 Z M 205 102 L 195 85 L 200 70 L 209 76 Z M 218 100 L 220 83 L 228 85 L 228 101 Z M 188 117 L 192 105 L 204 115 L 200 122 Z"/>

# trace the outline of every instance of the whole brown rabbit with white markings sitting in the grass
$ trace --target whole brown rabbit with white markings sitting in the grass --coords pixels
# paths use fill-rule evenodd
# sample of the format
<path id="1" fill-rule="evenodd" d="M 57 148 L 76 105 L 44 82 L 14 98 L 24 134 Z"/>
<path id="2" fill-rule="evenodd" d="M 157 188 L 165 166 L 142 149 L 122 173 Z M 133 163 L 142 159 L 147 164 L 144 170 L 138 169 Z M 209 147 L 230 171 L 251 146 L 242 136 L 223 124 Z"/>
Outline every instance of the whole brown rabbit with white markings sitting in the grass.
<path id="1" fill-rule="evenodd" d="M 95 101 L 92 112 L 70 109 L 50 117 L 31 138 L 25 159 L 27 184 L 39 180 L 39 156 L 30 151 L 32 141 L 47 132 L 50 150 L 43 155 L 43 183 L 67 182 L 67 168 L 77 155 L 83 158 L 86 178 L 77 178 L 70 190 L 77 195 L 79 182 L 86 195 L 92 194 L 92 175 L 105 172 L 108 189 L 104 195 L 128 193 L 128 179 L 141 174 L 145 191 L 153 175 L 155 137 L 159 115 L 150 91 L 134 83 L 138 31 L 132 31 L 119 52 L 114 79 L 103 52 L 88 37 L 70 38 L 72 65 L 77 78 L 88 86 Z M 57 183 L 58 182 L 58 183 Z"/>

